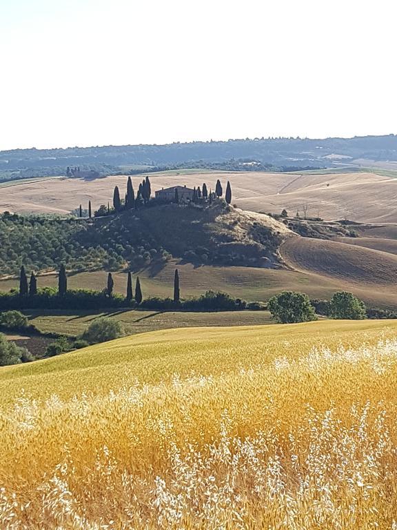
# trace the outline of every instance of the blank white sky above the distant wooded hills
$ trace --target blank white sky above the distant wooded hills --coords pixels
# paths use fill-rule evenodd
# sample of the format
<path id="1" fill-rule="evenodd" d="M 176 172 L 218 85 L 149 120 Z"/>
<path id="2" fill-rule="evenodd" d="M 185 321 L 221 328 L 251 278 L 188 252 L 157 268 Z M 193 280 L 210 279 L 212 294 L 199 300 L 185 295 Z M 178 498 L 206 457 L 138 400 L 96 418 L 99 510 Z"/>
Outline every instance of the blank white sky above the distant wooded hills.
<path id="1" fill-rule="evenodd" d="M 0 150 L 397 133 L 395 0 L 0 0 Z"/>

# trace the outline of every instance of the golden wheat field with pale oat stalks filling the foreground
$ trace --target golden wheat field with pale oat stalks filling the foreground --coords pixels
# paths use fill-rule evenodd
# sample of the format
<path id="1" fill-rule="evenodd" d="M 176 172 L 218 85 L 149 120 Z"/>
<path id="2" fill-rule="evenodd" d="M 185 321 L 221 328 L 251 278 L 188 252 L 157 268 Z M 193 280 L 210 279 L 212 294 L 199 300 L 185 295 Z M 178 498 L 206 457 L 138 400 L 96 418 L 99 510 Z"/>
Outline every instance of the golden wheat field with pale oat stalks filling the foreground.
<path id="1" fill-rule="evenodd" d="M 397 323 L 125 337 L 0 369 L 1 529 L 396 529 Z"/>

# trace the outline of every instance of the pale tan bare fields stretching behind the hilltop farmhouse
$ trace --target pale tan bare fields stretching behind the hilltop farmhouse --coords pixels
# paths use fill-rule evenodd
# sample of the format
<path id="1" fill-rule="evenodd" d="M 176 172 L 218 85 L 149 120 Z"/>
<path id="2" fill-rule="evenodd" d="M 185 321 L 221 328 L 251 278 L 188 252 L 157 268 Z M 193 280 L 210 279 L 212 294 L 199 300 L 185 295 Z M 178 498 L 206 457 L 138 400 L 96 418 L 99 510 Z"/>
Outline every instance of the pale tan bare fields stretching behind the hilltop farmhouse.
<path id="1" fill-rule="evenodd" d="M 134 175 L 134 188 L 143 176 Z M 261 213 L 279 213 L 286 208 L 295 215 L 323 219 L 352 219 L 368 223 L 397 222 L 397 179 L 375 173 L 287 174 L 252 172 L 177 172 L 168 171 L 150 175 L 152 190 L 176 184 L 202 186 L 214 189 L 216 179 L 224 186 L 232 184 L 233 204 L 244 210 Z M 14 183 L 12 183 L 14 184 Z M 114 186 L 125 192 L 127 177 L 83 179 L 45 179 L 2 186 L 0 211 L 10 210 L 36 213 L 69 213 L 92 201 L 94 209 L 112 202 Z"/>

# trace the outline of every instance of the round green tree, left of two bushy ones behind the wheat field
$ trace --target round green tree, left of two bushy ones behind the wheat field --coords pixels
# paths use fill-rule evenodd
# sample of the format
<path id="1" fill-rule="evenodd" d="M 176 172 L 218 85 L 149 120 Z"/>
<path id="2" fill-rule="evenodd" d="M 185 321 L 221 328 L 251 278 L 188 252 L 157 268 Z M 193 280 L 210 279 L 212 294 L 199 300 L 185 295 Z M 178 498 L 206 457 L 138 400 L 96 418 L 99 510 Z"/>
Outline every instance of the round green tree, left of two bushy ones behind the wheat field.
<path id="1" fill-rule="evenodd" d="M 317 320 L 309 297 L 303 293 L 284 291 L 270 298 L 269 302 L 267 302 L 267 308 L 272 313 L 274 320 L 282 324 Z"/>

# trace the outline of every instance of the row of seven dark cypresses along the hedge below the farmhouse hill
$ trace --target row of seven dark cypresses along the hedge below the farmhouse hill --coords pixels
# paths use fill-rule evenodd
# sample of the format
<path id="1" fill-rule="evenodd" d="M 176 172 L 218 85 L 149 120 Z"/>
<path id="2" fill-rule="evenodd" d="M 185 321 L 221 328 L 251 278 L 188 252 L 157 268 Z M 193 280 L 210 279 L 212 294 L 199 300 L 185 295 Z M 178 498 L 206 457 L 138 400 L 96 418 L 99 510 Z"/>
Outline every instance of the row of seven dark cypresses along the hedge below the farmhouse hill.
<path id="1" fill-rule="evenodd" d="M 112 297 L 113 294 L 113 288 L 114 288 L 114 280 L 112 277 L 112 273 L 108 273 L 108 283 L 106 286 L 106 294 L 108 297 Z M 143 300 L 142 295 L 142 288 L 141 288 L 141 282 L 139 280 L 139 276 L 136 277 L 136 284 L 135 284 L 135 296 L 132 295 L 132 274 L 128 272 L 127 277 L 127 293 L 125 296 L 125 300 L 128 300 L 130 302 L 133 298 L 135 299 L 136 304 L 141 304 Z M 59 296 L 65 296 L 68 292 L 68 276 L 66 275 L 66 269 L 65 266 L 62 264 L 59 268 L 59 274 L 58 274 L 58 294 Z M 30 275 L 30 281 L 28 282 L 28 276 L 26 275 L 25 267 L 21 266 L 21 273 L 19 275 L 19 295 L 21 297 L 32 297 L 34 295 L 37 295 L 37 277 L 32 273 Z M 181 298 L 181 292 L 179 288 L 179 272 L 178 269 L 175 270 L 174 273 L 174 302 L 176 304 L 179 303 Z"/>

